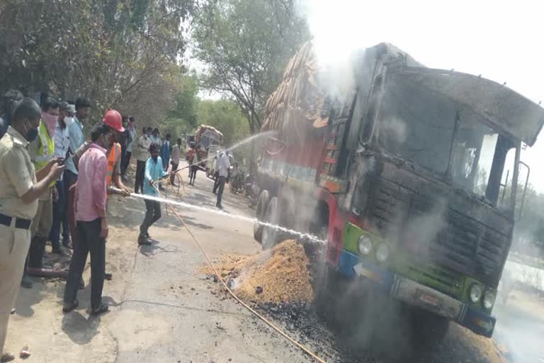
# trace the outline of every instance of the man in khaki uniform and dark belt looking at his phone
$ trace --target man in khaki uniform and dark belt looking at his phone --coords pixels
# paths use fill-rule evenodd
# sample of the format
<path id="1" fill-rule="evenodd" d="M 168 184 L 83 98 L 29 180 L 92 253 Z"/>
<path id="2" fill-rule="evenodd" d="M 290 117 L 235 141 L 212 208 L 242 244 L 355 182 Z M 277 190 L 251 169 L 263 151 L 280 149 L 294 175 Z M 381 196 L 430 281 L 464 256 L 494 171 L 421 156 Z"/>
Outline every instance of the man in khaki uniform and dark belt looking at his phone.
<path id="1" fill-rule="evenodd" d="M 4 352 L 8 318 L 23 275 L 30 223 L 38 209 L 38 197 L 64 166 L 51 160 L 35 172 L 28 143 L 38 135 L 40 107 L 25 98 L 13 111 L 11 126 L 0 140 L 0 362 L 15 356 Z"/>

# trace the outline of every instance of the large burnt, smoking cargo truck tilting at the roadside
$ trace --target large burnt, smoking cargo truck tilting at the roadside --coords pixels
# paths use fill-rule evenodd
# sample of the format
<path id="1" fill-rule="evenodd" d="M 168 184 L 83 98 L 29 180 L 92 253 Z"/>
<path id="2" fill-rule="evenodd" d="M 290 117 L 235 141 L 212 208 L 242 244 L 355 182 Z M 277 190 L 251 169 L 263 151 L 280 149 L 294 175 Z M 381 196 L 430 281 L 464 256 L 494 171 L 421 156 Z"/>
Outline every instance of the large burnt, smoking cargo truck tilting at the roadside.
<path id="1" fill-rule="evenodd" d="M 269 97 L 261 131 L 276 133 L 257 160 L 254 238 L 271 248 L 280 225 L 323 240 L 317 285 L 335 292 L 317 298 L 328 303 L 339 286 L 370 286 L 423 312 L 435 337 L 451 321 L 491 337 L 522 145 L 536 142 L 544 109 L 387 43 L 348 64 L 349 77 L 324 69 L 307 43 Z"/>

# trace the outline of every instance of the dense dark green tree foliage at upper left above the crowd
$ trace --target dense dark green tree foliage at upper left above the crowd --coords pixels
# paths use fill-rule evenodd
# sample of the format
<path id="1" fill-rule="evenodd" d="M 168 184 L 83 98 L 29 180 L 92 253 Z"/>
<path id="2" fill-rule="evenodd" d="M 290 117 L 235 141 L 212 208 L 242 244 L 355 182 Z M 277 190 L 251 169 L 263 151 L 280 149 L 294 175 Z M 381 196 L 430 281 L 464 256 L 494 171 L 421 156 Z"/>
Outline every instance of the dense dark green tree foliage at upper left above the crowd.
<path id="1" fill-rule="evenodd" d="M 190 0 L 4 0 L 0 92 L 86 96 L 145 123 L 169 109 Z"/>

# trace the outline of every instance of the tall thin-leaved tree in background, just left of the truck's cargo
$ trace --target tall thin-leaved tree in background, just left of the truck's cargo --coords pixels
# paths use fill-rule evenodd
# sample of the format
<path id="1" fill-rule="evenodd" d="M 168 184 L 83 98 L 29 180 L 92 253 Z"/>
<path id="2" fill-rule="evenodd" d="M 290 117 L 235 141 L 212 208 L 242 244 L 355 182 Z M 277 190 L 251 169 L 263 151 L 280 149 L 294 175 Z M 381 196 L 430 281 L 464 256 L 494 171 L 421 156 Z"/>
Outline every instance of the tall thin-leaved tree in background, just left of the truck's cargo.
<path id="1" fill-rule="evenodd" d="M 294 0 L 215 0 L 203 5 L 193 27 L 203 87 L 232 98 L 259 132 L 268 95 L 290 57 L 309 38 Z"/>

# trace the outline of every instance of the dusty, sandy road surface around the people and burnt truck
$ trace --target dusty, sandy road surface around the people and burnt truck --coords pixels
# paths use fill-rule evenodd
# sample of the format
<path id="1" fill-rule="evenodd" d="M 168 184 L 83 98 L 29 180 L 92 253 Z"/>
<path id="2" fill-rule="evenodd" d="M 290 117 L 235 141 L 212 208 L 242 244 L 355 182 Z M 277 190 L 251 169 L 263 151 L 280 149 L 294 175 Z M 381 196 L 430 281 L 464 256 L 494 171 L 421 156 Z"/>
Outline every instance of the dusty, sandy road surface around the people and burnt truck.
<path id="1" fill-rule="evenodd" d="M 184 201 L 215 205 L 212 181 L 203 173 L 195 187 L 186 188 Z M 250 216 L 253 212 L 246 203 L 225 190 L 227 213 Z M 217 294 L 217 284 L 201 270 L 205 260 L 200 250 L 164 207 L 162 220 L 150 230 L 153 245 L 139 248 L 136 240 L 144 211 L 141 200 L 111 200 L 106 270 L 113 273 L 113 280 L 104 286 L 111 311 L 89 316 L 89 267 L 86 287 L 79 292 L 80 307 L 69 314 L 62 313 L 64 281 L 35 278 L 33 289 L 21 289 L 6 350 L 18 354 L 28 345 L 27 362 L 312 362 L 232 298 Z M 180 213 L 212 259 L 231 253 L 255 255 L 260 250 L 251 223 L 203 211 Z M 543 326 L 544 303 L 516 292 L 514 296 L 507 306 L 497 308 L 496 337 L 505 342 L 477 337 L 453 324 L 438 352 L 421 362 L 532 362 L 520 360 L 526 356 L 511 347 L 519 342 L 509 332 L 520 334 L 516 323 L 523 315 L 524 330 L 542 333 L 538 329 Z M 364 350 L 351 351 L 308 304 L 263 305 L 260 311 L 326 362 L 387 362 Z M 538 355 L 538 347 L 523 349 L 534 352 L 531 357 L 544 357 Z"/>

